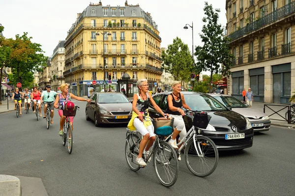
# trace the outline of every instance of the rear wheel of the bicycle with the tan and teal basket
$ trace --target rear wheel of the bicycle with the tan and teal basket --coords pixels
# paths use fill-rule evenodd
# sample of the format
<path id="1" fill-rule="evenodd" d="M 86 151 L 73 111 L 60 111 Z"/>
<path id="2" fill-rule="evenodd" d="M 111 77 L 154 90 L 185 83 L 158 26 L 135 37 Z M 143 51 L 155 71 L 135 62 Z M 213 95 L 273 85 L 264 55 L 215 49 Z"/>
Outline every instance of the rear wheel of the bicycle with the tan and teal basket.
<path id="1" fill-rule="evenodd" d="M 133 171 L 138 171 L 140 169 L 139 165 L 136 163 L 136 157 L 138 156 L 139 144 L 136 143 L 139 141 L 139 137 L 135 134 L 129 134 L 126 139 L 125 144 L 125 157 L 127 165 Z M 132 147 L 132 149 L 130 149 Z"/>

